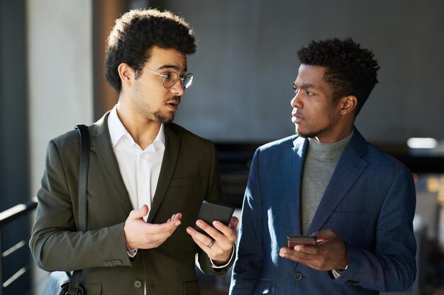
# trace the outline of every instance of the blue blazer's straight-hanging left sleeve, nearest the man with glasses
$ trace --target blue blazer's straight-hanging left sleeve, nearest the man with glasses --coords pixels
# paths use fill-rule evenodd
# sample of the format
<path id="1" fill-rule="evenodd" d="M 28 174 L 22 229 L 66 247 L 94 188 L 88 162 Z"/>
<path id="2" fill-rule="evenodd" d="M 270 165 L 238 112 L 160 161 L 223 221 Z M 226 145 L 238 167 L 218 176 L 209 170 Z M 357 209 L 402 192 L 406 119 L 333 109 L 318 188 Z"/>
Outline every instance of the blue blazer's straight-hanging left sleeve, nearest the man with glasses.
<path id="1" fill-rule="evenodd" d="M 231 277 L 230 294 L 254 294 L 262 268 L 262 196 L 259 178 L 259 149 L 252 158 L 243 199 L 238 250 Z"/>

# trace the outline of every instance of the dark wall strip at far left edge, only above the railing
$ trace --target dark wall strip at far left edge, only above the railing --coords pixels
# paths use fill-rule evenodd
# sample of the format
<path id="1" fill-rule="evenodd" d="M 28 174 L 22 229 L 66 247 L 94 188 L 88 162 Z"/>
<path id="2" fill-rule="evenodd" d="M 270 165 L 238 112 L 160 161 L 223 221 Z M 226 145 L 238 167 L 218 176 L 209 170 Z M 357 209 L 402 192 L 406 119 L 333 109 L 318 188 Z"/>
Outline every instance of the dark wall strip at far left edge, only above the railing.
<path id="1" fill-rule="evenodd" d="M 24 2 L 0 0 L 0 211 L 30 197 Z"/>

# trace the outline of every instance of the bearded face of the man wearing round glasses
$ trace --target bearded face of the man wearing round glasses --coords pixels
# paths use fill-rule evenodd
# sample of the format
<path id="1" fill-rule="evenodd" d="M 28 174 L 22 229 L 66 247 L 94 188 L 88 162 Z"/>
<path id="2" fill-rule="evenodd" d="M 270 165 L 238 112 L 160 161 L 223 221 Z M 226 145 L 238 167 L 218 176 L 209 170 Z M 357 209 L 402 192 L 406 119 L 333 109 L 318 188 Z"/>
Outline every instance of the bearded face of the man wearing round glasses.
<path id="1" fill-rule="evenodd" d="M 150 58 L 131 88 L 131 102 L 134 111 L 145 119 L 160 123 L 174 120 L 180 98 L 184 94 L 182 83 L 178 80 L 174 86 L 165 88 L 164 78 L 152 73 L 169 74 L 174 71 L 180 76 L 186 74 L 187 56 L 174 49 L 152 47 Z"/>

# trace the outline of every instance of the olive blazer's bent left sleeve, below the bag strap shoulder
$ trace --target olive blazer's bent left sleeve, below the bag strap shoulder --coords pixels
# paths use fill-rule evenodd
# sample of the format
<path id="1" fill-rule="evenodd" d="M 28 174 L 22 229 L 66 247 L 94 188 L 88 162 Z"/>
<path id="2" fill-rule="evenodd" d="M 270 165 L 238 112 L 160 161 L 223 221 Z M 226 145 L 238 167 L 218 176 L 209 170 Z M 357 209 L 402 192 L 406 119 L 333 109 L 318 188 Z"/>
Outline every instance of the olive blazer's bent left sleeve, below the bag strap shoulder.
<path id="1" fill-rule="evenodd" d="M 76 152 L 72 149 L 72 155 Z M 29 242 L 33 258 L 38 267 L 47 271 L 131 265 L 126 253 L 123 223 L 77 231 L 77 216 L 74 216 L 77 204 L 72 204 L 77 202 L 77 187 L 70 187 L 70 183 L 77 183 L 77 180 L 70 178 L 78 178 L 74 175 L 78 173 L 78 159 L 78 156 L 72 156 L 71 160 L 62 161 L 55 142 L 48 144 L 45 173 L 37 194 L 38 207 Z"/>

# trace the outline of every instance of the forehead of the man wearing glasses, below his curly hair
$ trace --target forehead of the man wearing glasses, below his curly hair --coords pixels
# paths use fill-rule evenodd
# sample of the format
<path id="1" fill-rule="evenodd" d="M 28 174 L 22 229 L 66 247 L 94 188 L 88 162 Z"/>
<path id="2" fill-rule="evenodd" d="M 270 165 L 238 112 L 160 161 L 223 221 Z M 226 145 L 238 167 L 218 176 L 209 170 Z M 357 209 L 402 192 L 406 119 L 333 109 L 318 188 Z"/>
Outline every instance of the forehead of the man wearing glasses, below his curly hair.
<path id="1" fill-rule="evenodd" d="M 187 71 L 187 54 L 173 48 L 152 47 L 147 65 L 154 69 L 174 69 Z"/>

